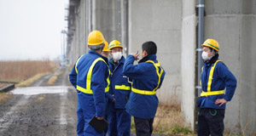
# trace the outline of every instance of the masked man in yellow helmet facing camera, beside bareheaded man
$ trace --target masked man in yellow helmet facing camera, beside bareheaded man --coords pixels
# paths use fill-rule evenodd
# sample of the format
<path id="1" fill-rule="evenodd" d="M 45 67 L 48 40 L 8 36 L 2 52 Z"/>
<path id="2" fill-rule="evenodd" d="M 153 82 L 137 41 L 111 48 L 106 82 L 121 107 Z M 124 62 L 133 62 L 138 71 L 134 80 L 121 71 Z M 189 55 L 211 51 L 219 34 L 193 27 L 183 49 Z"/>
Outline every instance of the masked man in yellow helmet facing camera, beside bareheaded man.
<path id="1" fill-rule="evenodd" d="M 130 136 L 131 115 L 125 111 L 125 105 L 131 93 L 131 83 L 123 74 L 125 57 L 122 54 L 123 47 L 117 40 L 109 43 L 110 54 L 109 69 L 111 71 L 110 86 L 108 92 L 108 135 Z"/>

